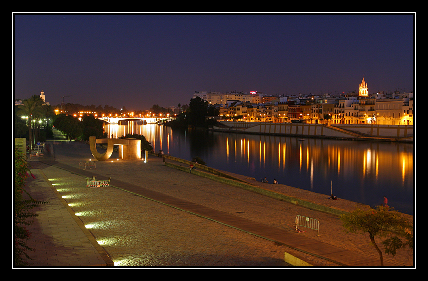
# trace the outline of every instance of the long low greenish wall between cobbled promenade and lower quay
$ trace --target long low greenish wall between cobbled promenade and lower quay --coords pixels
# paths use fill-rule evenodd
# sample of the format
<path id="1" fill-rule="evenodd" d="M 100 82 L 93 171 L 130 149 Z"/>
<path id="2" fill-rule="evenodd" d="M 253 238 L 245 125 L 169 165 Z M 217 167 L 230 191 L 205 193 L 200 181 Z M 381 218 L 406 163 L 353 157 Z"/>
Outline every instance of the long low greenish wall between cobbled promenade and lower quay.
<path id="1" fill-rule="evenodd" d="M 151 156 L 158 156 L 158 154 L 156 153 L 149 153 Z M 251 185 L 243 180 L 240 180 L 238 178 L 232 177 L 231 175 L 225 174 L 221 171 L 218 171 L 214 168 L 211 167 L 207 167 L 204 165 L 200 165 L 188 160 L 184 160 L 184 159 L 180 159 L 177 157 L 173 157 L 170 155 L 162 155 L 162 157 L 164 159 L 169 159 L 175 162 L 179 162 L 179 163 L 183 163 L 186 164 L 186 166 L 182 166 L 182 165 L 177 165 L 174 163 L 170 163 L 170 162 L 165 162 L 165 166 L 167 167 L 171 167 L 183 172 L 187 172 L 187 173 L 192 173 L 194 175 L 200 176 L 200 177 L 205 177 L 211 180 L 214 180 L 216 182 L 221 182 L 230 186 L 234 186 L 234 187 L 238 187 L 238 188 L 242 188 L 251 192 L 255 192 L 261 195 L 265 195 L 277 200 L 281 200 L 281 201 L 285 201 L 294 205 L 298 205 L 301 207 L 305 207 L 311 210 L 315 210 L 315 211 L 321 211 L 324 213 L 328 213 L 334 216 L 341 216 L 345 213 L 347 213 L 348 211 L 346 210 L 342 210 L 339 208 L 333 208 L 333 207 L 329 207 L 329 206 L 325 206 L 325 205 L 320 205 L 314 202 L 310 202 L 301 198 L 297 198 L 297 197 L 293 197 L 293 196 L 289 196 L 286 195 L 284 193 L 281 192 L 274 192 L 272 190 L 269 189 L 264 189 L 258 186 L 254 186 Z M 165 160 L 164 160 L 165 161 Z M 189 165 L 193 164 L 195 166 L 195 168 L 197 168 L 196 170 L 190 170 Z M 364 204 L 359 204 L 357 203 L 358 207 L 361 209 L 369 209 L 370 206 L 369 205 L 364 205 Z"/>

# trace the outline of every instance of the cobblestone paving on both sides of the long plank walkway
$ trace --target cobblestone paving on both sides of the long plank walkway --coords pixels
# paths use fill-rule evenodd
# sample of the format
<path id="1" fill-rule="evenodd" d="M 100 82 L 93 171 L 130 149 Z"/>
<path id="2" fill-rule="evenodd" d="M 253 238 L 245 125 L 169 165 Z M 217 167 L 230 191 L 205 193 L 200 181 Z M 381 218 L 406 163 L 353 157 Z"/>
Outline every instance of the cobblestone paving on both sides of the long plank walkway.
<path id="1" fill-rule="evenodd" d="M 93 158 L 89 146 L 78 142 L 54 142 L 50 153 L 50 156 L 47 153 L 47 159 L 55 156 L 56 161 L 73 167 L 79 167 L 79 162 Z M 147 163 L 142 160 L 118 161 L 114 155 L 112 159 L 96 162 L 96 168 L 93 169 L 95 174 L 103 175 L 104 179 L 111 177 L 111 186 L 103 188 L 87 188 L 84 177 L 54 166 L 34 160 L 31 160 L 31 165 L 55 185 L 115 265 L 282 267 L 287 266 L 284 252 L 316 266 L 335 265 L 319 257 L 115 188 L 115 179 L 285 231 L 295 232 L 296 215 L 311 217 L 320 221 L 319 236 L 310 229 L 296 235 L 305 235 L 378 257 L 368 236 L 346 234 L 335 216 L 166 167 L 162 158 L 149 157 Z M 326 200 L 326 195 L 298 188 L 283 185 L 269 185 L 267 188 L 295 193 L 300 197 L 312 197 L 311 200 L 326 204 L 340 202 L 339 204 L 345 204 L 348 208 L 354 208 L 351 202 L 338 200 L 333 203 Z M 409 249 L 399 250 L 395 257 L 384 255 L 384 259 L 397 266 L 413 266 L 413 252 Z M 39 261 L 34 262 L 37 265 Z"/>

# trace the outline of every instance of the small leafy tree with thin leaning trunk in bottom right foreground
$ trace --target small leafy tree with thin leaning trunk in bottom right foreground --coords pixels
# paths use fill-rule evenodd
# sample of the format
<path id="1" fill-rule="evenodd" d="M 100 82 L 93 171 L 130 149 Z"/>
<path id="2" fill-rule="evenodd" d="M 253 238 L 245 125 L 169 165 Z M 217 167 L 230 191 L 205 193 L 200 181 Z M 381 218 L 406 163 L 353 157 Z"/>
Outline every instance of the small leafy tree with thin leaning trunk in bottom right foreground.
<path id="1" fill-rule="evenodd" d="M 382 251 L 376 244 L 375 236 L 387 237 L 382 242 L 386 254 L 396 255 L 396 250 L 406 246 L 413 249 L 413 227 L 402 214 L 392 208 L 377 206 L 375 209 L 356 209 L 340 217 L 345 232 L 368 233 L 370 240 L 379 253 L 383 266 Z"/>

